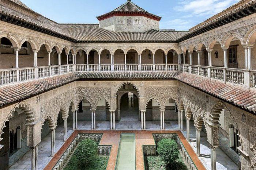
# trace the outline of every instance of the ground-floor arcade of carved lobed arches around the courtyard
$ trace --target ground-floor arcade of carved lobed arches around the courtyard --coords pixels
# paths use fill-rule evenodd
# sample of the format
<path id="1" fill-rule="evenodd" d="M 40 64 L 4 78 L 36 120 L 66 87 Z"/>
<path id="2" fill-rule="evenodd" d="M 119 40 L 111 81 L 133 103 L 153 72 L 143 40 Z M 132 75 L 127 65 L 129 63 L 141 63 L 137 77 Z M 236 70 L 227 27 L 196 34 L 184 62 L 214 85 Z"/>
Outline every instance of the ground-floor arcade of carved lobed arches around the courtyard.
<path id="1" fill-rule="evenodd" d="M 212 110 L 218 111 L 217 128 L 211 122 Z M 180 129 L 199 158 L 210 162 L 205 165 L 209 169 L 249 167 L 251 160 L 246 154 L 252 152 L 255 140 L 253 126 L 249 126 L 256 122 L 255 116 L 174 80 L 75 81 L 5 107 L 1 115 L 4 140 L 0 141 L 0 154 L 1 162 L 5 162 L 1 166 L 11 169 L 29 150 L 30 166 L 38 166 L 45 136 L 50 147 L 43 153 L 49 161 L 76 129 Z M 220 152 L 216 149 L 225 152 L 230 165 L 218 162 Z"/>

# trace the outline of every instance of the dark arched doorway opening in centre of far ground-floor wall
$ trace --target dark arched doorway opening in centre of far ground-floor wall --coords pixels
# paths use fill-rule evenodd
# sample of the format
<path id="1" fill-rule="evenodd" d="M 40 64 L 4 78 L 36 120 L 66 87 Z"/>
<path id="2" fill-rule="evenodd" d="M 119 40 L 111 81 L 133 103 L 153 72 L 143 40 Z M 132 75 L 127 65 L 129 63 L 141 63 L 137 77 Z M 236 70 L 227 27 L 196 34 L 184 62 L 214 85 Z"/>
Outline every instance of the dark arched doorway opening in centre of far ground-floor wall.
<path id="1" fill-rule="evenodd" d="M 120 98 L 120 120 L 139 120 L 139 98 L 125 92 Z"/>

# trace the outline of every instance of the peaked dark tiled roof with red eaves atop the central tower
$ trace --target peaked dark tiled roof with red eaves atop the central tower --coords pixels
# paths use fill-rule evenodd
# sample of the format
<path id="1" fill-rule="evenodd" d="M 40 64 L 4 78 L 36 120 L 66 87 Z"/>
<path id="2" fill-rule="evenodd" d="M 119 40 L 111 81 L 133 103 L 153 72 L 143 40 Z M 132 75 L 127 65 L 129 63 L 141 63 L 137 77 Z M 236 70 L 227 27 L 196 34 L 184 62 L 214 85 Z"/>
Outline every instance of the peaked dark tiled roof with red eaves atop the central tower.
<path id="1" fill-rule="evenodd" d="M 147 12 L 145 9 L 139 7 L 138 5 L 134 4 L 131 0 L 127 0 L 126 3 L 124 3 L 123 5 L 117 7 L 116 9 L 114 9 L 111 12 L 105 13 L 101 16 L 97 16 L 97 19 L 103 20 L 103 19 L 107 19 L 110 18 L 112 16 L 145 16 L 147 18 L 150 19 L 154 19 L 157 21 L 161 20 L 160 16 L 154 15 L 152 13 Z"/>

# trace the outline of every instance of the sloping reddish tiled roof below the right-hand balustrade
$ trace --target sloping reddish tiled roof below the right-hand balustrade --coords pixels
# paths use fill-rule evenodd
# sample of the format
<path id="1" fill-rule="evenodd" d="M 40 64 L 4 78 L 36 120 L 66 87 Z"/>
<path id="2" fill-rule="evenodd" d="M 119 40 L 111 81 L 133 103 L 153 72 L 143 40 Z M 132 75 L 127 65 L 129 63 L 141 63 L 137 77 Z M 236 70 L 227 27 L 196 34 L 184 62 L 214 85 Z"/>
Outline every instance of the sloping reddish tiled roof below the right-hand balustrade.
<path id="1" fill-rule="evenodd" d="M 256 91 L 240 86 L 225 84 L 223 82 L 209 80 L 208 78 L 181 73 L 175 76 L 177 80 L 184 82 L 196 89 L 202 90 L 227 103 L 245 109 L 256 114 Z"/>

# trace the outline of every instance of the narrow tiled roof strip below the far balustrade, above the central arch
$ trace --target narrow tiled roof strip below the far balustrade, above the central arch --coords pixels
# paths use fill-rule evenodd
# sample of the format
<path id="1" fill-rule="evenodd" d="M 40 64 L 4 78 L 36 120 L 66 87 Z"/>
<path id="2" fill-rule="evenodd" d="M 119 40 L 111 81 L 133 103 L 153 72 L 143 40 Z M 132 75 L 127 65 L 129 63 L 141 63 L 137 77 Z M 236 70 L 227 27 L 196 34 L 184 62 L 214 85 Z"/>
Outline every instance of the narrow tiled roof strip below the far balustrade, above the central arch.
<path id="1" fill-rule="evenodd" d="M 81 79 L 96 80 L 164 80 L 172 79 L 178 72 L 80 72 L 77 75 Z"/>

